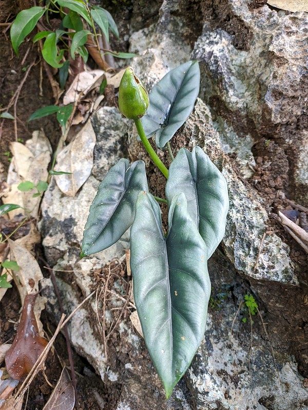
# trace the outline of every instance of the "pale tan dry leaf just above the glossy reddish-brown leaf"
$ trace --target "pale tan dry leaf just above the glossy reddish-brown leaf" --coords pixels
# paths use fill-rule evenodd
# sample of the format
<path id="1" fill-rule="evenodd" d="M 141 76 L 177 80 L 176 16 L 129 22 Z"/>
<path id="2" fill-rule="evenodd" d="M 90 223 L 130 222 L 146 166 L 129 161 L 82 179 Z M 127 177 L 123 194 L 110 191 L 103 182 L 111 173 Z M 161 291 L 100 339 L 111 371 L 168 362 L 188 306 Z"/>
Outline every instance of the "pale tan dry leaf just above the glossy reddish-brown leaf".
<path id="1" fill-rule="evenodd" d="M 20 268 L 19 271 L 12 271 L 14 282 L 20 293 L 22 305 L 27 295 L 38 292 L 38 282 L 43 279 L 40 266 L 34 256 L 20 244 L 8 239 L 11 252 L 11 260 L 15 260 Z M 45 309 L 47 299 L 42 296 L 36 298 L 34 314 L 40 334 L 43 335 L 43 324 L 40 320 L 41 312 Z"/>

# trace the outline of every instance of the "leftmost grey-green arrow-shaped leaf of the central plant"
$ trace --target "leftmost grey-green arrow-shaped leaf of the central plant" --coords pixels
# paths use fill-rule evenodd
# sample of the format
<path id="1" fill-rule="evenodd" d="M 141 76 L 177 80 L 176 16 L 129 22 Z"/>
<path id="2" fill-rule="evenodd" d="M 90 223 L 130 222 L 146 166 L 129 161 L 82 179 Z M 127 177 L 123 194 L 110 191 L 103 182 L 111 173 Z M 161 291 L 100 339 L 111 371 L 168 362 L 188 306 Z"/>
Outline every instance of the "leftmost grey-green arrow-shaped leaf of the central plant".
<path id="1" fill-rule="evenodd" d="M 131 226 L 138 193 L 147 191 L 143 161 L 120 159 L 101 182 L 84 230 L 83 255 L 109 248 Z"/>

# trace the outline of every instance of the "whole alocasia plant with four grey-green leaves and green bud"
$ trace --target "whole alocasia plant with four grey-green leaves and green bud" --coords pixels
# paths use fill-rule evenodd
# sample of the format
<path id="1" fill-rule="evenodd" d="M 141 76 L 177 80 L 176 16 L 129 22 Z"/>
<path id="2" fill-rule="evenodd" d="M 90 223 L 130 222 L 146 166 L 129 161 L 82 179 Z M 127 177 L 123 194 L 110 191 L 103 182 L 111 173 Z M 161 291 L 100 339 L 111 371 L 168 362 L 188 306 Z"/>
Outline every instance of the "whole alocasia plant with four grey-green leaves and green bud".
<path id="1" fill-rule="evenodd" d="M 143 161 L 129 167 L 127 159 L 120 159 L 101 182 L 82 243 L 81 256 L 100 252 L 131 226 L 134 300 L 166 398 L 204 336 L 210 296 L 207 260 L 224 235 L 228 193 L 224 177 L 200 147 L 192 152 L 181 148 L 168 170 L 148 138 L 156 133 L 156 145 L 171 151 L 169 140 L 194 108 L 199 83 L 199 65 L 188 61 L 166 74 L 148 98 L 133 69 L 127 68 L 119 108 L 133 119 L 147 152 L 167 178 L 167 200 L 148 191 Z M 167 235 L 158 202 L 168 204 Z"/>

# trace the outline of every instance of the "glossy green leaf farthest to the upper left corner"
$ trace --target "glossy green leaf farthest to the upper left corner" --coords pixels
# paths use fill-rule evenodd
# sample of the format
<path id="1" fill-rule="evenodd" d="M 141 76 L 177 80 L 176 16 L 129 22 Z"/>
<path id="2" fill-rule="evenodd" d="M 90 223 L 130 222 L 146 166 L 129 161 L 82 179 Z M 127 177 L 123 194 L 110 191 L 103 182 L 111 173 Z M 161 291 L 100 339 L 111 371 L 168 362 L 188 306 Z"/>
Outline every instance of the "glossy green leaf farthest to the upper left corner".
<path id="1" fill-rule="evenodd" d="M 22 10 L 17 14 L 10 31 L 12 46 L 17 55 L 18 47 L 34 29 L 44 12 L 45 8 L 43 7 L 31 7 L 31 9 Z"/>

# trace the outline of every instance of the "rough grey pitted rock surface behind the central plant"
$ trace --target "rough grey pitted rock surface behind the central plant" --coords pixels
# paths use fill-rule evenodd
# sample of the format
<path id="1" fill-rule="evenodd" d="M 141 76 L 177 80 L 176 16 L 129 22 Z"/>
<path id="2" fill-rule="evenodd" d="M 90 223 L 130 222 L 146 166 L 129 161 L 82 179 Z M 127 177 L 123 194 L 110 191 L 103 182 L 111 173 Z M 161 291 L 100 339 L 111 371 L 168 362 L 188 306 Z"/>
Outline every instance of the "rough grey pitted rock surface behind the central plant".
<path id="1" fill-rule="evenodd" d="M 139 3 L 135 16 L 142 7 Z M 72 344 L 111 391 L 118 389 L 119 401 L 112 410 L 308 408 L 307 380 L 297 368 L 300 363 L 301 374 L 307 374 L 308 320 L 303 302 L 307 284 L 302 267 L 290 258 L 290 247 L 281 236 L 275 232 L 263 238 L 270 228 L 268 208 L 246 180 L 255 165 L 254 141 L 264 135 L 282 138 L 287 153 L 290 147 L 300 152 L 290 166 L 297 198 L 304 200 L 306 149 L 300 151 L 304 132 L 296 122 L 301 124 L 304 116 L 305 17 L 303 13 L 277 13 L 267 6 L 252 9 L 240 0 L 195 3 L 196 27 L 201 20 L 204 25 L 202 33 L 195 33 L 195 38 L 200 37 L 192 55 L 201 62 L 204 101 L 197 101 L 181 135 L 189 141 L 189 148 L 201 146 L 222 170 L 230 194 L 224 254 L 217 250 L 209 260 L 213 289 L 204 343 L 168 401 L 144 342 L 128 318 L 118 323 L 105 356 L 100 330 L 102 298 L 84 305 L 73 317 L 69 325 Z M 184 4 L 165 0 L 156 23 L 130 37 L 131 51 L 140 54 L 132 65 L 148 88 L 190 57 L 193 47 L 183 34 L 189 23 Z M 232 24 L 239 28 L 234 34 L 230 33 Z M 91 176 L 74 198 L 65 197 L 51 183 L 42 203 L 47 261 L 54 269 L 73 271 L 56 274 L 67 312 L 92 289 L 101 289 L 93 272 L 114 258 L 123 260 L 124 249 L 129 247 L 126 233 L 108 250 L 79 259 L 83 227 L 99 181 L 126 151 L 130 154 L 126 140 L 134 135 L 130 122 L 115 108 L 101 109 L 92 124 L 97 145 Z M 139 156 L 148 166 L 141 149 Z M 120 288 L 115 281 L 111 290 L 121 295 Z M 48 280 L 43 292 L 50 301 L 49 311 L 59 319 Z M 123 301 L 114 294 L 111 305 L 122 308 Z M 245 294 L 254 294 L 261 313 L 254 317 L 252 327 L 243 304 Z M 112 321 L 111 311 L 105 312 L 105 320 Z"/>

